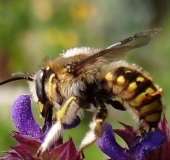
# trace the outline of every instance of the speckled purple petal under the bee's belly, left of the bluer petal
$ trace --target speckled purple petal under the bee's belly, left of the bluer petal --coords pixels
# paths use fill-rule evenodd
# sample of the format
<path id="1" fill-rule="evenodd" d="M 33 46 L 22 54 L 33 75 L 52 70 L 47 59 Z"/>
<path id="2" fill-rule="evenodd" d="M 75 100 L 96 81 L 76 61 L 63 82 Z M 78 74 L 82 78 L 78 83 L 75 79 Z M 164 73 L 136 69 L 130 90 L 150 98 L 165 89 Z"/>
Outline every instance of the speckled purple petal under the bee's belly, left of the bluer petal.
<path id="1" fill-rule="evenodd" d="M 104 123 L 103 127 L 102 138 L 96 141 L 100 150 L 114 160 L 129 160 L 130 157 L 127 150 L 116 142 L 112 126 Z"/>

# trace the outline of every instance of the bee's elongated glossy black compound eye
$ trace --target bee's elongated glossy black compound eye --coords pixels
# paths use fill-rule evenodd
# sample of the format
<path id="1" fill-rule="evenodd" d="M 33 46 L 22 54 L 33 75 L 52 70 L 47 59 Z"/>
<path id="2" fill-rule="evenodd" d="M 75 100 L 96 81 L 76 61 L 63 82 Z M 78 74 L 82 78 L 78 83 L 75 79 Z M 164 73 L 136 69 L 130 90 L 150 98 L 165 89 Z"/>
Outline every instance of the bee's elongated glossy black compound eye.
<path id="1" fill-rule="evenodd" d="M 35 80 L 35 89 L 36 94 L 39 101 L 42 104 L 45 104 L 47 101 L 46 93 L 45 93 L 45 70 L 41 69 L 38 71 L 36 80 Z"/>

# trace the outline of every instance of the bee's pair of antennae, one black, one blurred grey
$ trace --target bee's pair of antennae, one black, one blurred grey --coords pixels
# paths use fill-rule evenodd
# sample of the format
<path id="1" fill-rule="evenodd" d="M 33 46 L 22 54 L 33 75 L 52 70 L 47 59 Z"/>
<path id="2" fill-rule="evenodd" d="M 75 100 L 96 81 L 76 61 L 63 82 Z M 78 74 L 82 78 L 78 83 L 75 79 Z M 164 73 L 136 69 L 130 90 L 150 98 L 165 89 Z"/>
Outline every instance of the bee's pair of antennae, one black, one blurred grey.
<path id="1" fill-rule="evenodd" d="M 9 83 L 9 82 L 22 80 L 22 79 L 27 80 L 27 81 L 34 81 L 33 75 L 34 75 L 33 73 L 26 73 L 26 72 L 23 72 L 23 71 L 14 72 L 14 73 L 12 73 L 12 76 L 17 76 L 17 77 L 13 77 L 13 78 L 7 79 L 3 82 L 0 82 L 0 86 L 4 85 L 6 83 Z"/>

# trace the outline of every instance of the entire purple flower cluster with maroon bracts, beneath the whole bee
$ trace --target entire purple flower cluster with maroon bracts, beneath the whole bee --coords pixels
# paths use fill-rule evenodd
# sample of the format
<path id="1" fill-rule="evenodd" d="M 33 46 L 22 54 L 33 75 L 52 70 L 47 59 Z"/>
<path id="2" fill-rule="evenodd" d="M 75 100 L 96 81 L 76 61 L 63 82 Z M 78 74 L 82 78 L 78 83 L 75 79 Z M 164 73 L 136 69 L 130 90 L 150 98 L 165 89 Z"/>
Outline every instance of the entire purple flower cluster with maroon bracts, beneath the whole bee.
<path id="1" fill-rule="evenodd" d="M 47 132 L 43 133 L 41 127 L 35 122 L 31 111 L 31 96 L 21 95 L 12 105 L 12 120 L 19 132 L 13 132 L 19 145 L 11 147 L 6 151 L 7 156 L 2 160 L 12 159 L 35 159 L 38 148 L 45 138 Z M 77 116 L 72 124 L 64 124 L 64 129 L 71 129 L 80 123 Z M 104 123 L 104 133 L 102 138 L 96 141 L 98 147 L 112 160 L 169 160 L 170 159 L 170 137 L 168 124 L 164 119 L 159 123 L 159 129 L 146 134 L 140 141 L 140 137 L 134 134 L 131 126 L 125 125 L 124 130 L 113 130 L 112 126 Z M 118 134 L 127 144 L 128 148 L 121 147 L 115 139 L 114 134 Z M 166 139 L 166 140 L 165 140 Z M 75 145 L 70 138 L 62 144 L 62 137 L 54 144 L 50 150 L 45 151 L 42 159 L 57 160 L 79 160 Z M 165 143 L 164 143 L 165 142 Z"/>

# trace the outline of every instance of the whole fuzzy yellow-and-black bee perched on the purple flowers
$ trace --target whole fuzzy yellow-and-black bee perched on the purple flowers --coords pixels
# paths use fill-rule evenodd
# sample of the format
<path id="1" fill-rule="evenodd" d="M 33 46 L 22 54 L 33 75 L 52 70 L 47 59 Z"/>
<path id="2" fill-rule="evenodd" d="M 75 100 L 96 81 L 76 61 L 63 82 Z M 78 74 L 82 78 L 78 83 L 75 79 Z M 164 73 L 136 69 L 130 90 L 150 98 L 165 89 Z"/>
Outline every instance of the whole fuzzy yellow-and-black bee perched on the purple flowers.
<path id="1" fill-rule="evenodd" d="M 71 124 L 84 110 L 94 112 L 94 116 L 79 151 L 101 138 L 107 105 L 129 111 L 138 124 L 135 131 L 141 137 L 157 128 L 163 110 L 161 88 L 137 65 L 122 59 L 128 51 L 147 45 L 159 31 L 135 34 L 104 50 L 69 49 L 54 60 L 44 60 L 36 73 L 16 72 L 15 77 L 0 83 L 29 81 L 33 98 L 45 118 L 44 132 L 52 125 L 53 108 L 56 108 L 57 121 L 37 151 L 37 158 L 63 134 L 63 124 Z"/>

